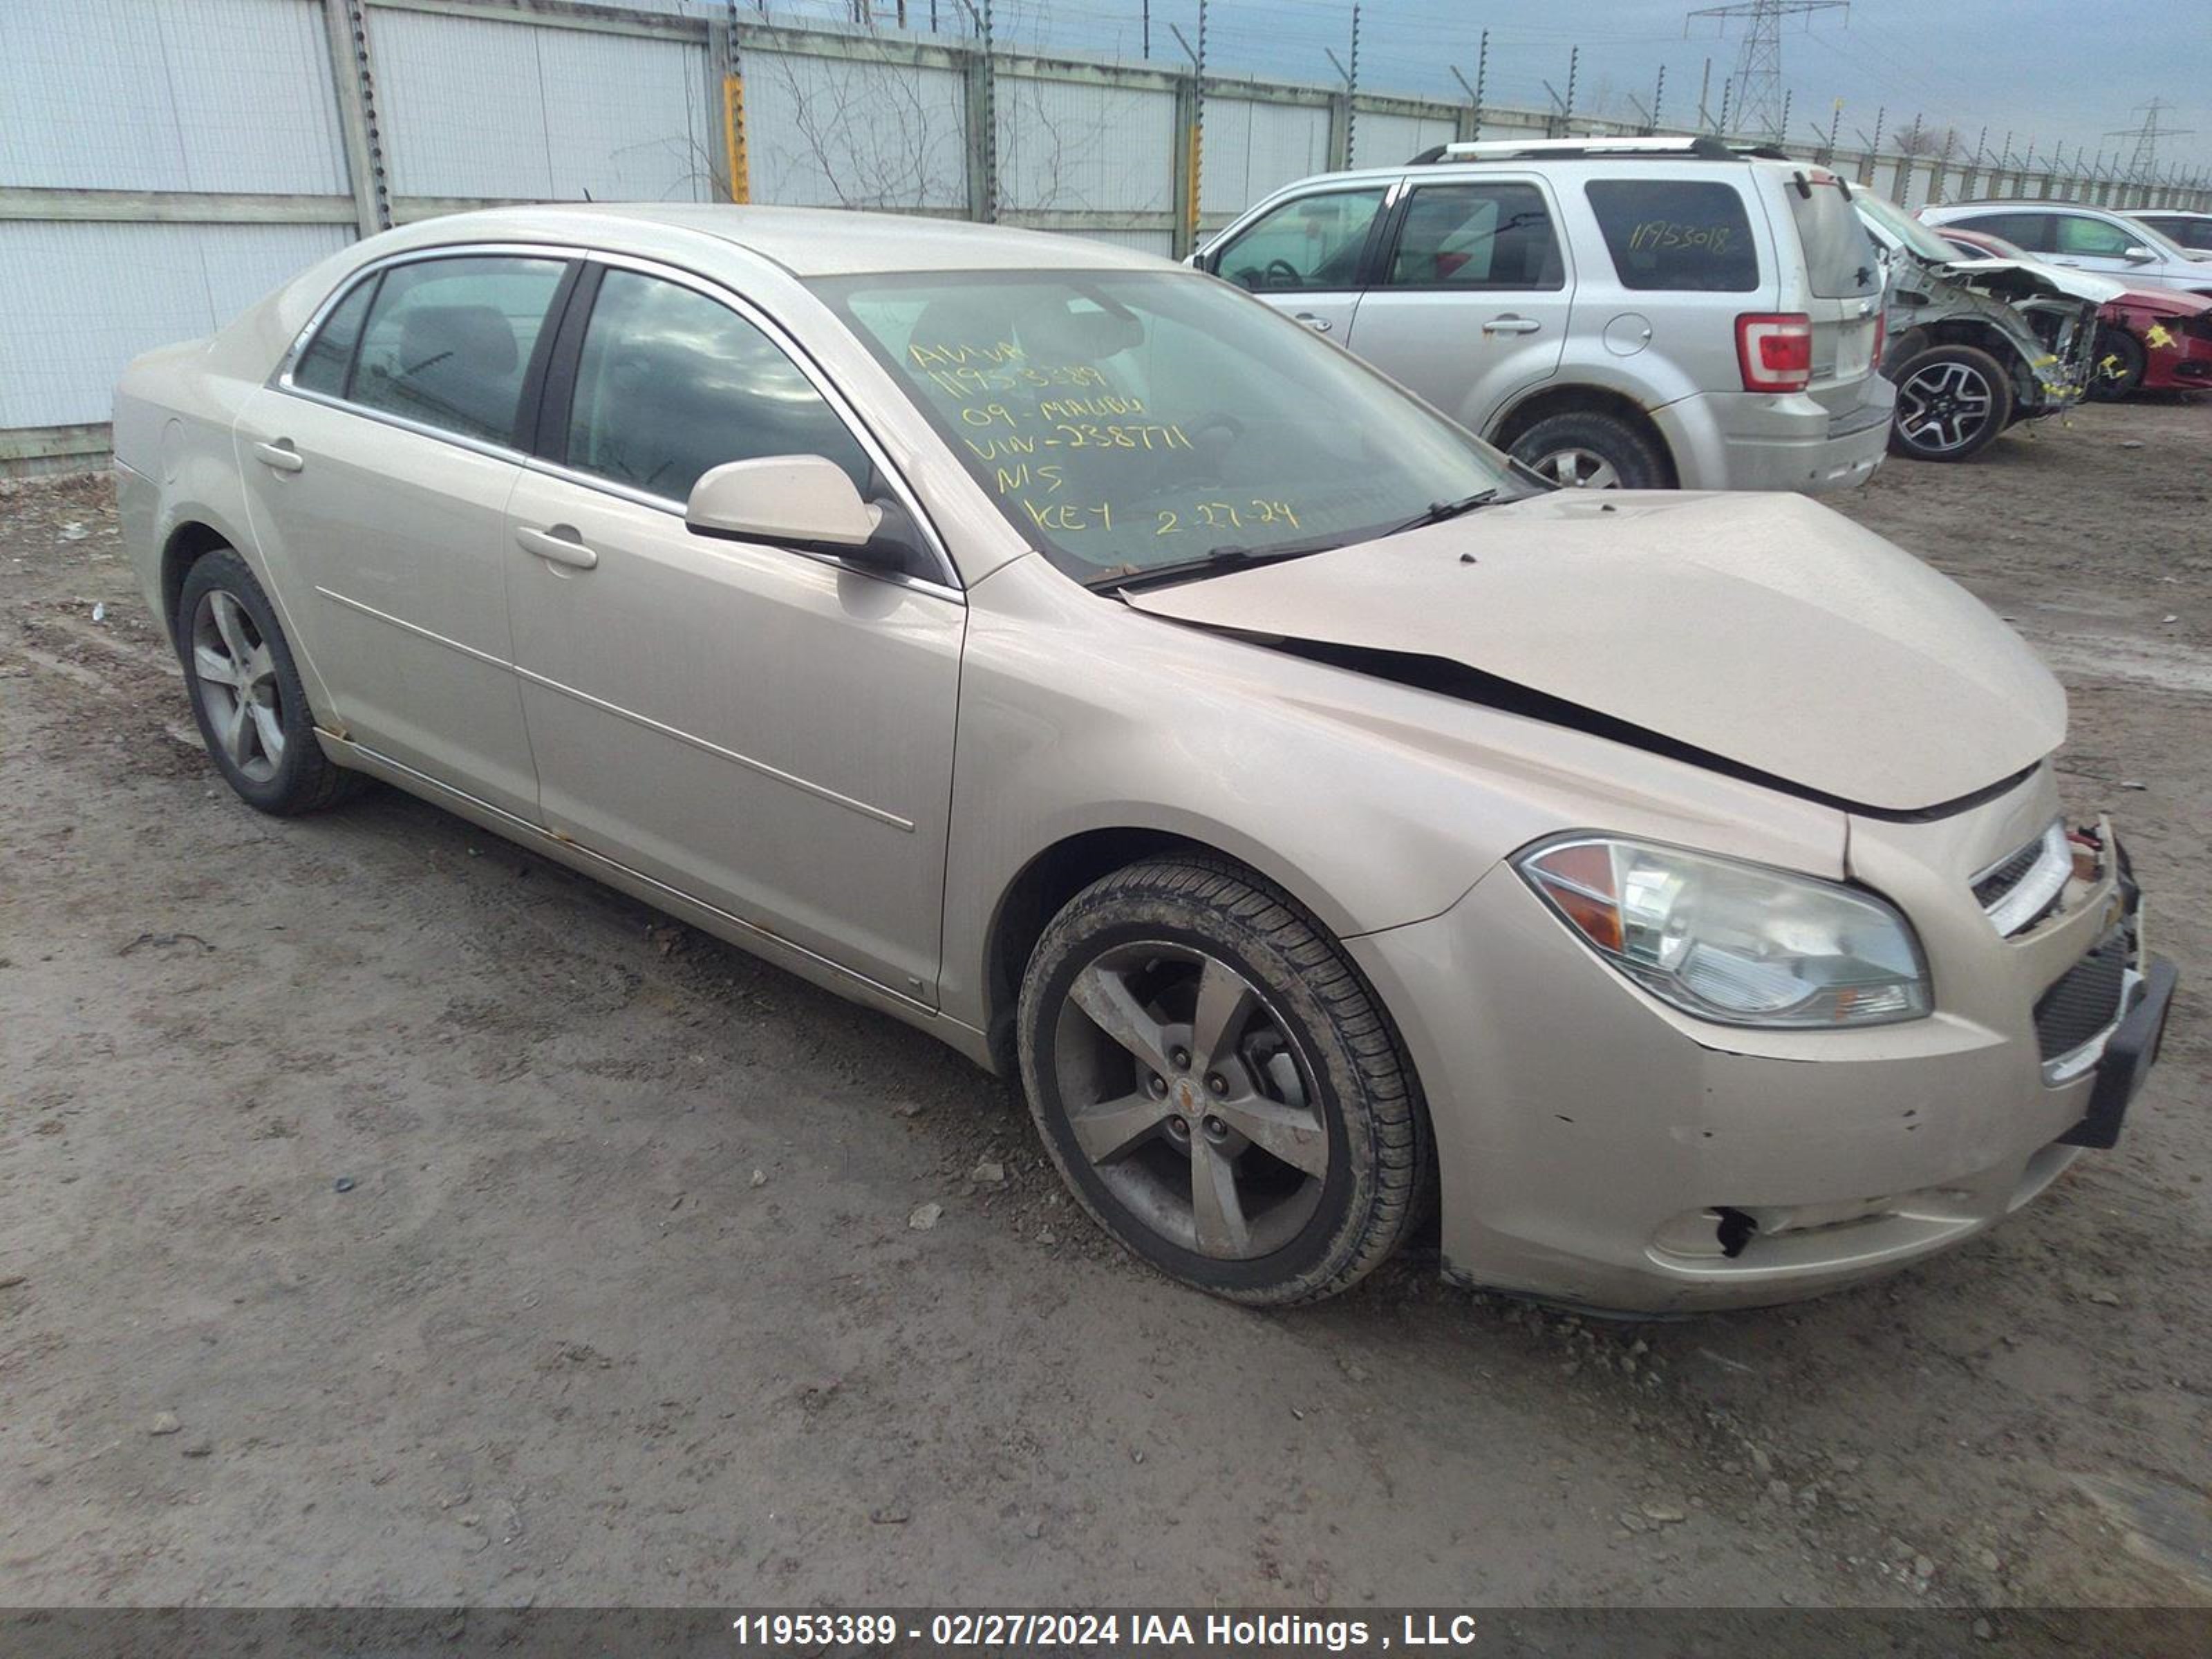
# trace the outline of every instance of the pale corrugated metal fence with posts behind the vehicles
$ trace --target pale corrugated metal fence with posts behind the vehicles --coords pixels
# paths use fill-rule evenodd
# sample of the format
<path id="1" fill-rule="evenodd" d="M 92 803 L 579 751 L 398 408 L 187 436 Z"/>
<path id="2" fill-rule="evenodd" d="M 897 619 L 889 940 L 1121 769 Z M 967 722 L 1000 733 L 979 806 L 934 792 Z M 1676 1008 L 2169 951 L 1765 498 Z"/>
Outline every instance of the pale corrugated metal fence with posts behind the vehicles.
<path id="1" fill-rule="evenodd" d="M 1181 254 L 1310 173 L 1555 131 L 1526 108 L 1214 73 L 1201 88 L 1152 62 L 730 18 L 681 0 L 0 0 L 0 471 L 97 456 L 131 356 L 219 327 L 385 223 L 734 197 Z M 2090 192 L 1818 159 L 1907 206 Z"/>

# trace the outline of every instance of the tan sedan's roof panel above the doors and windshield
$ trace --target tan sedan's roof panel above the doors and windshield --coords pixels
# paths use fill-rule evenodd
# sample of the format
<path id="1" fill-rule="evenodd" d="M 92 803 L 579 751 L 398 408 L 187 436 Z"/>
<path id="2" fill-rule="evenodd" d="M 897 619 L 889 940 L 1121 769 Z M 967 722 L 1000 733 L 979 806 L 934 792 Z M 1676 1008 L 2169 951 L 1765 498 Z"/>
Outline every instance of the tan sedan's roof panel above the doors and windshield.
<path id="1" fill-rule="evenodd" d="M 564 241 L 641 257 L 697 252 L 701 239 L 772 259 L 796 276 L 891 270 L 1175 270 L 1104 241 L 902 212 L 741 208 L 692 201 L 602 201 L 482 208 L 422 219 L 385 250 L 451 241 Z"/>

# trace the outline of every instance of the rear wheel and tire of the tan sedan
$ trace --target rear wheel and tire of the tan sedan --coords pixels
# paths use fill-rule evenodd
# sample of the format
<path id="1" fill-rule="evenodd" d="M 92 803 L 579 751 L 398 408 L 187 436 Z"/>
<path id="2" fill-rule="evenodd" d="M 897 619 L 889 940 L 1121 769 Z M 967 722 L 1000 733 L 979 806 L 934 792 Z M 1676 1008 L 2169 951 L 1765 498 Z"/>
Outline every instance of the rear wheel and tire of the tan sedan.
<path id="1" fill-rule="evenodd" d="M 323 754 L 276 608 L 237 551 L 192 564 L 175 628 L 199 737 L 246 805 L 290 818 L 352 794 L 358 774 Z"/>

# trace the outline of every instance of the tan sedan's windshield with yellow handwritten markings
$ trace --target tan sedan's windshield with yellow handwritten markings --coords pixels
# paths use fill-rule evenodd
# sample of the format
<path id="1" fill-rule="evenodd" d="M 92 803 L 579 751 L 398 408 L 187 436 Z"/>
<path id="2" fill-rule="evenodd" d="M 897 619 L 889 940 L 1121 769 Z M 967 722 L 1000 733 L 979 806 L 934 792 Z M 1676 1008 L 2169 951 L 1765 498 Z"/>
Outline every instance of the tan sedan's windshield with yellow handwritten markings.
<path id="1" fill-rule="evenodd" d="M 1082 582 L 1221 549 L 1340 546 L 1517 489 L 1495 449 L 1210 276 L 931 272 L 814 290 Z"/>

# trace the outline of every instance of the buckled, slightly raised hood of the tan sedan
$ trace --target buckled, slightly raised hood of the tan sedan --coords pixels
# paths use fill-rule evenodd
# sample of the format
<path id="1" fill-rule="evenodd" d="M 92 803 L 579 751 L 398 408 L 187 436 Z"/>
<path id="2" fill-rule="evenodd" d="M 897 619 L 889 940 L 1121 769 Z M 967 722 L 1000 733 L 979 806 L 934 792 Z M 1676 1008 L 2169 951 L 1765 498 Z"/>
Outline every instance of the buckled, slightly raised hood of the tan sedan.
<path id="1" fill-rule="evenodd" d="M 1128 602 L 1396 677 L 1442 659 L 1493 701 L 1885 812 L 2066 737 L 2059 684 L 1980 599 L 1803 495 L 1559 491 Z"/>

